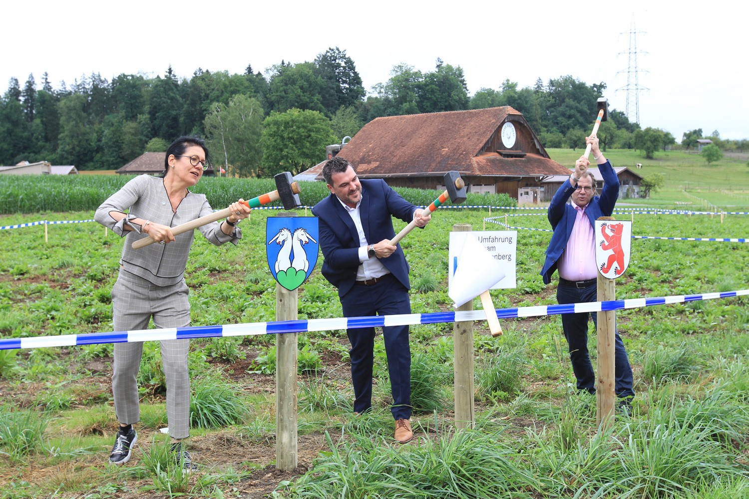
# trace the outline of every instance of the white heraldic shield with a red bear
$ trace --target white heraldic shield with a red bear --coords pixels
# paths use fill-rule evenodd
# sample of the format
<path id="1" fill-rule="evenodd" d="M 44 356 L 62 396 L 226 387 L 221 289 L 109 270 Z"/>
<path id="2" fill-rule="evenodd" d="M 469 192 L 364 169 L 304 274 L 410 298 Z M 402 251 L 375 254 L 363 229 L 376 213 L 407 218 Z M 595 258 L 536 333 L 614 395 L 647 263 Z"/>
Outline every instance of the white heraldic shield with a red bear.
<path id="1" fill-rule="evenodd" d="M 616 279 L 629 266 L 632 248 L 632 222 L 595 221 L 595 263 L 607 279 Z"/>

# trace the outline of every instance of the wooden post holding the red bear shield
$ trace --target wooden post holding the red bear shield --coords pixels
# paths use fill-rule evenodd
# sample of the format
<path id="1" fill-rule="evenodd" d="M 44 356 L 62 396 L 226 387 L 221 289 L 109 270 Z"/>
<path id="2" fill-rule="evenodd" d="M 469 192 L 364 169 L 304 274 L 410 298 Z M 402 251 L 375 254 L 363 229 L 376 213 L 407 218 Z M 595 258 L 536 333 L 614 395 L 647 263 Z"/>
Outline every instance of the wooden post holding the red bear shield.
<path id="1" fill-rule="evenodd" d="M 613 220 L 613 217 L 601 217 L 598 220 Z M 598 272 L 598 301 L 616 299 L 614 280 L 604 278 Z M 598 312 L 597 319 L 598 376 L 595 381 L 595 405 L 598 431 L 602 432 L 613 424 L 614 420 L 614 334 L 616 334 L 616 310 Z"/>

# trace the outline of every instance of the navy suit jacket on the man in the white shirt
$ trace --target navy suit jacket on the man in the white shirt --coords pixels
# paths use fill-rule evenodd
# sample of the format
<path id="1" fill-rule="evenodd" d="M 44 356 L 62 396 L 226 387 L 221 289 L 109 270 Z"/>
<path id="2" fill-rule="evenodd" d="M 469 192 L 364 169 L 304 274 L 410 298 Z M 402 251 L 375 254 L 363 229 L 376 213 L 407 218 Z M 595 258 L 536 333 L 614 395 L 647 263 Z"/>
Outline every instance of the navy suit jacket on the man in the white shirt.
<path id="1" fill-rule="evenodd" d="M 392 216 L 402 221 L 413 220 L 416 206 L 401 198 L 383 180 L 360 180 L 362 183 L 362 202 L 359 206 L 364 235 L 369 244 L 376 244 L 383 239 L 395 237 L 392 228 Z M 312 215 L 319 218 L 320 248 L 324 261 L 322 272 L 325 278 L 338 288 L 339 296 L 345 296 L 357 279 L 359 261 L 359 233 L 351 215 L 341 206 L 336 195 L 330 194 L 315 204 Z M 408 283 L 408 263 L 401 245 L 395 253 L 380 262 L 392 275 L 410 290 Z"/>

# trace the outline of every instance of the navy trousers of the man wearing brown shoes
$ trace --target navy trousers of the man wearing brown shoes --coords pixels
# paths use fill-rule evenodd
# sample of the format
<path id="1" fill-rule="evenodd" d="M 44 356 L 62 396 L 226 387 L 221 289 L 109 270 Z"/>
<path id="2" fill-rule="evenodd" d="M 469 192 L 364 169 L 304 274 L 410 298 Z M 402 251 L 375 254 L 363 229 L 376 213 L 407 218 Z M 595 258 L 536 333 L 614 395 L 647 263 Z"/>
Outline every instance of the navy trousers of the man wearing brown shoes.
<path id="1" fill-rule="evenodd" d="M 392 275 L 372 286 L 355 284 L 341 298 L 343 315 L 389 316 L 411 313 L 408 290 Z M 392 389 L 392 416 L 398 419 L 411 417 L 411 351 L 408 343 L 408 326 L 384 326 L 383 340 L 387 355 L 387 369 Z M 351 381 L 354 385 L 354 411 L 363 412 L 372 407 L 372 367 L 375 361 L 375 328 L 348 329 L 351 342 Z"/>

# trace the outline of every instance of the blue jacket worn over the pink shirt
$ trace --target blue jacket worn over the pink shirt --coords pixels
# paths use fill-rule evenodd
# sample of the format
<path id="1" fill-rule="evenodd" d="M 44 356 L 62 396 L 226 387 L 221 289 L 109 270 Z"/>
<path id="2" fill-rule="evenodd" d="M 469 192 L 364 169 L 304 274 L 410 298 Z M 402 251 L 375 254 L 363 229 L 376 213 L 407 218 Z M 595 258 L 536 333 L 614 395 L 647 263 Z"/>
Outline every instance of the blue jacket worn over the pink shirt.
<path id="1" fill-rule="evenodd" d="M 600 196 L 595 196 L 585 209 L 585 214 L 590 220 L 590 224 L 595 227 L 595 221 L 602 216 L 611 216 L 613 207 L 616 204 L 616 198 L 619 198 L 619 178 L 610 162 L 598 165 L 601 171 L 601 177 L 604 177 L 604 188 Z M 557 260 L 560 259 L 567 241 L 574 227 L 574 218 L 577 215 L 574 207 L 567 203 L 567 200 L 574 192 L 568 180 L 562 183 L 557 190 L 554 198 L 549 205 L 548 218 L 551 228 L 554 229 L 554 235 L 551 236 L 551 242 L 546 250 L 546 260 L 541 275 L 544 276 L 544 284 L 551 282 L 551 275 L 557 270 Z M 593 262 L 595 265 L 595 262 Z"/>

